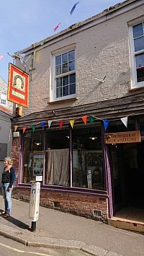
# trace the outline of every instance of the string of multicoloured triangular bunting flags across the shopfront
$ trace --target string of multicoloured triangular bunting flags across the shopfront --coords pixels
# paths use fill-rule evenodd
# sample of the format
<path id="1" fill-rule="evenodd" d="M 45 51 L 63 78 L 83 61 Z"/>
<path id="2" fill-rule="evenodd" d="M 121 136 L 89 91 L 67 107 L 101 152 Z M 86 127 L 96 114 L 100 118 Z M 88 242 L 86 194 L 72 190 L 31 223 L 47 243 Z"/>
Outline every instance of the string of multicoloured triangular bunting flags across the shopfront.
<path id="1" fill-rule="evenodd" d="M 88 118 L 88 117 L 89 117 L 89 115 L 84 115 L 84 116 L 81 117 L 81 119 L 83 120 L 83 122 L 84 122 L 85 125 L 87 124 L 87 118 Z M 100 118 L 96 118 L 94 115 L 90 115 L 90 125 L 91 125 L 92 123 L 94 123 L 94 121 L 95 121 L 96 119 L 97 119 L 97 120 L 102 120 L 102 119 L 100 119 Z M 76 120 L 76 119 L 71 119 L 71 120 L 69 120 L 69 122 L 70 122 L 70 124 L 71 124 L 71 128 L 73 128 L 73 125 L 74 125 L 74 123 L 75 123 L 75 120 Z M 128 116 L 125 116 L 124 118 L 113 119 L 113 120 L 102 120 L 103 123 L 104 123 L 104 129 L 105 129 L 105 131 L 107 130 L 107 127 L 108 127 L 108 125 L 109 125 L 109 122 L 115 121 L 115 120 L 121 120 L 122 123 L 125 125 L 125 127 L 127 127 Z M 50 128 L 52 122 L 53 122 L 53 120 L 48 120 L 48 128 Z M 55 121 L 54 121 L 54 122 L 55 122 Z M 63 121 L 63 120 L 60 120 L 60 121 L 57 121 L 57 122 L 59 123 L 59 128 L 60 128 L 60 130 L 61 130 L 61 128 L 63 127 L 64 121 Z M 45 123 L 46 123 L 45 120 L 44 120 L 44 121 L 41 121 L 41 122 L 39 123 L 39 124 L 42 126 L 42 129 L 45 128 Z M 18 128 L 18 127 L 19 127 L 18 125 L 14 125 L 14 132 L 17 131 L 17 128 Z M 27 128 L 32 128 L 32 131 L 33 131 L 33 133 L 34 133 L 34 132 L 35 132 L 35 127 L 36 127 L 36 125 L 24 126 L 24 127 L 22 128 L 22 131 L 23 131 L 23 133 L 24 133 Z"/>

